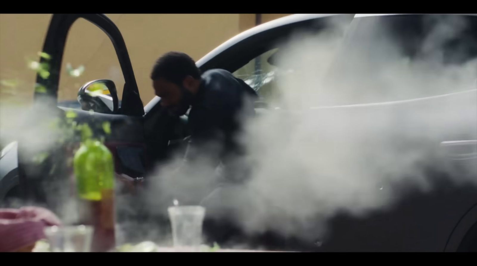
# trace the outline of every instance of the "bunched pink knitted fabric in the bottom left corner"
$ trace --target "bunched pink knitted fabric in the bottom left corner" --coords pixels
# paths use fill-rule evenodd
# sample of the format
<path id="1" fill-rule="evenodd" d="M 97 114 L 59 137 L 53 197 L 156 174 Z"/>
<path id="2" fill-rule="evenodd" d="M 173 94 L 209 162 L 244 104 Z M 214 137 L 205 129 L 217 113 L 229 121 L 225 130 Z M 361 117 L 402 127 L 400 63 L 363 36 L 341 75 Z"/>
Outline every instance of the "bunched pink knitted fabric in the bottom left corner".
<path id="1" fill-rule="evenodd" d="M 46 226 L 61 225 L 51 211 L 41 207 L 0 209 L 0 252 L 12 252 L 45 238 Z"/>

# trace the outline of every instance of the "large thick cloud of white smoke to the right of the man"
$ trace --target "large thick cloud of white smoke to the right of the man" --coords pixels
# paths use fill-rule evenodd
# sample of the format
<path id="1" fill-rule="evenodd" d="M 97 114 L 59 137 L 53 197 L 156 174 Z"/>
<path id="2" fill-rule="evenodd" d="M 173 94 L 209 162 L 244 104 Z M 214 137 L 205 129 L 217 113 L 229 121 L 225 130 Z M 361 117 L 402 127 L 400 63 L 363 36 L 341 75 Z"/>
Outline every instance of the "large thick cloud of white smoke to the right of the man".
<path id="1" fill-rule="evenodd" d="M 240 136 L 252 178 L 208 195 L 209 215 L 233 217 L 249 233 L 314 238 L 338 212 L 365 216 L 397 203 L 406 188 L 432 191 L 429 168 L 452 172 L 440 143 L 477 139 L 477 59 L 464 60 L 465 45 L 448 46 L 470 25 L 426 19 L 424 38 L 407 47 L 404 33 L 392 34 L 397 23 L 362 20 L 297 33 L 279 49 L 279 96 Z M 181 176 L 160 168 L 148 200 L 207 195 L 212 167 L 196 167 Z M 475 174 L 450 176 L 477 185 Z"/>

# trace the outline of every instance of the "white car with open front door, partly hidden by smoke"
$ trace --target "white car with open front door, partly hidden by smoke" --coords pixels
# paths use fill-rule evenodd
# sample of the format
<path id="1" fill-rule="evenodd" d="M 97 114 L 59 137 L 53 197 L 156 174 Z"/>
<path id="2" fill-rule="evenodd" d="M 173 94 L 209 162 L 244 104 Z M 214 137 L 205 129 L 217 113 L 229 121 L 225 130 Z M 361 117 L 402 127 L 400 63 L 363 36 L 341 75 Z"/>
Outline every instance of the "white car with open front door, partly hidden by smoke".
<path id="1" fill-rule="evenodd" d="M 261 98 L 257 102 L 257 108 L 274 112 L 281 109 L 280 106 L 271 105 L 270 99 L 267 98 L 271 89 L 266 84 L 274 79 L 276 72 L 263 69 L 260 63 L 255 62 L 267 61 L 269 65 L 273 65 L 276 58 L 282 55 L 280 53 L 282 46 L 280 45 L 295 40 L 294 37 L 297 36 L 295 35 L 297 32 L 313 35 L 327 30 L 330 21 L 340 21 L 340 25 L 344 26 L 344 31 L 342 32 L 342 41 L 339 42 L 339 47 L 337 47 L 339 52 L 336 58 L 332 58 L 329 67 L 326 68 L 326 71 L 333 72 L 333 69 L 340 64 L 342 64 L 341 67 L 346 67 L 348 64 L 353 65 L 351 62 L 354 55 L 347 53 L 350 47 L 361 45 L 360 47 L 363 50 L 360 50 L 359 56 L 365 54 L 367 56 L 365 58 L 377 63 L 380 62 L 380 58 L 375 58 L 375 55 L 382 54 L 383 51 L 379 51 L 379 47 L 374 47 L 372 42 L 366 42 L 371 32 L 370 29 L 377 25 L 387 27 L 388 31 L 386 32 L 390 33 L 397 50 L 404 54 L 406 58 L 409 60 L 419 58 L 425 52 L 418 48 L 423 47 L 423 43 L 426 41 L 426 27 L 443 17 L 450 18 L 450 21 L 463 20 L 467 23 L 468 29 L 459 31 L 460 35 L 443 44 L 444 50 L 441 59 L 450 65 L 462 65 L 475 60 L 477 58 L 477 16 L 474 15 L 297 14 L 273 20 L 235 36 L 197 61 L 197 66 L 202 71 L 220 68 L 235 73 L 259 93 Z M 55 103 L 67 32 L 78 18 L 88 20 L 101 28 L 113 42 L 124 74 L 125 84 L 122 103 L 119 108 L 113 83 L 112 87 L 108 87 L 113 96 L 110 97 L 113 104 L 109 105 L 111 108 L 107 113 L 96 112 L 90 114 L 88 111 L 64 107 L 61 107 L 61 110 L 73 111 L 76 113 L 76 120 L 80 122 L 92 124 L 98 121 L 110 122 L 112 134 L 106 138 L 105 143 L 113 151 L 116 158 L 116 172 L 127 174 L 133 178 L 142 177 L 147 172 L 150 164 L 167 156 L 167 146 L 168 143 L 171 143 L 172 138 L 171 128 L 180 125 L 180 122 L 161 112 L 162 108 L 157 104 L 159 102 L 158 97 L 153 98 L 143 106 L 120 29 L 105 15 L 54 14 L 52 16 L 43 47 L 43 51 L 52 56 L 52 60 L 49 61 L 51 76 L 47 80 L 38 76 L 37 82 L 44 85 L 48 90 L 46 93 L 36 92 L 35 99 L 38 101 L 45 98 L 46 95 L 52 97 L 52 103 Z M 452 31 L 454 24 L 449 25 L 451 29 L 443 28 L 442 32 Z M 439 32 L 441 31 L 436 34 L 439 34 Z M 293 57 L 293 54 L 291 56 Z M 312 59 L 312 56 L 310 58 Z M 307 60 L 307 58 L 301 60 Z M 405 64 L 406 62 L 402 63 Z M 252 71 L 247 71 L 248 69 L 252 69 Z M 349 71 L 356 71 L 360 75 L 373 75 L 372 72 L 366 72 L 367 69 L 364 68 L 349 69 Z M 294 72 L 290 73 L 290 75 L 293 75 Z M 391 72 L 390 75 L 392 76 L 393 73 Z M 344 87 L 343 90 L 345 91 L 343 92 L 354 93 L 354 102 L 350 102 L 349 97 L 343 98 L 346 101 L 340 98 L 328 99 L 329 101 L 324 101 L 326 103 L 324 105 L 309 106 L 309 112 L 324 112 L 330 117 L 338 114 L 340 117 L 343 117 L 343 114 L 344 116 L 353 116 L 359 113 L 370 119 L 375 119 L 377 114 L 393 109 L 394 112 L 403 114 L 400 123 L 405 127 L 406 117 L 412 117 L 413 112 L 426 108 L 426 106 L 435 106 L 436 102 L 443 102 L 444 104 L 453 101 L 461 102 L 466 99 L 471 104 L 470 107 L 466 106 L 470 109 L 464 111 L 477 113 L 477 88 L 475 84 L 469 84 L 470 87 L 467 90 L 456 91 L 449 86 L 447 91 L 430 90 L 426 91 L 427 94 L 419 94 L 415 98 L 407 99 L 399 97 L 401 94 L 397 86 L 394 87 L 396 91 L 374 95 L 371 89 L 370 91 L 364 89 L 363 91 L 353 91 L 352 87 Z M 122 86 L 123 84 L 116 85 Z M 363 86 L 360 88 L 362 89 Z M 293 90 L 293 88 L 290 90 Z M 369 95 L 374 97 L 373 102 L 364 100 L 364 96 Z M 149 99 L 143 100 L 148 101 Z M 101 105 L 102 103 L 96 102 L 94 104 Z M 442 119 L 441 124 L 436 125 L 436 129 L 430 128 L 431 126 L 423 126 L 420 130 L 423 134 L 426 134 L 427 131 L 436 133 L 437 137 L 432 140 L 435 141 L 433 147 L 438 151 L 444 151 L 448 155 L 446 163 L 454 165 L 457 169 L 451 174 L 468 175 L 469 178 L 477 179 L 477 125 L 475 120 L 472 121 L 473 118 L 475 116 L 472 115 L 468 119 L 467 117 L 460 117 L 459 119 L 465 122 L 465 126 L 459 129 L 461 131 L 456 130 L 453 134 L 439 135 L 439 133 L 436 133 L 437 128 L 446 127 L 445 123 L 449 122 L 446 119 Z M 366 126 L 367 124 L 363 124 L 363 128 Z M 451 126 L 452 123 L 448 125 L 448 127 Z M 176 138 L 180 139 L 183 137 L 182 134 L 177 133 Z M 374 141 L 379 139 L 379 136 L 370 135 L 369 139 L 370 145 L 380 145 L 378 141 Z M 406 149 L 413 145 L 413 140 L 396 135 L 395 143 L 394 147 L 396 149 Z M 48 173 L 51 167 L 45 165 L 52 164 L 53 161 L 58 163 L 61 160 L 52 155 L 56 158 L 55 160 L 47 159 L 44 161 L 45 165 L 41 167 L 29 167 L 26 159 L 20 159 L 19 167 L 17 150 L 18 153 L 21 153 L 22 145 L 26 144 L 19 141 L 18 149 L 16 144 L 13 144 L 2 151 L 0 159 L 0 197 L 15 196 L 16 194 L 18 197 L 34 197 L 36 200 L 47 201 L 41 186 L 48 179 L 49 175 L 45 173 Z M 277 143 L 277 145 L 280 145 L 280 143 Z M 326 156 L 326 154 L 323 156 Z M 24 157 L 20 156 L 20 158 Z M 432 165 L 427 166 L 429 168 L 425 172 L 424 178 L 431 177 L 431 175 L 433 178 L 445 175 L 445 173 L 440 173 L 434 169 Z M 346 166 L 343 165 L 343 167 Z M 56 173 L 56 175 L 58 174 Z M 335 215 L 330 220 L 329 234 L 326 239 L 317 238 L 312 241 L 296 239 L 286 237 L 280 231 L 257 233 L 239 239 L 252 246 L 257 245 L 274 250 L 477 251 L 477 187 L 475 185 L 452 184 L 447 182 L 444 177 L 436 178 L 436 180 L 438 182 L 434 184 L 431 191 L 406 191 L 406 196 L 403 199 L 384 210 L 371 212 L 363 217 L 347 213 Z M 49 204 L 54 205 L 54 203 Z M 207 226 L 206 221 L 206 234 L 221 246 L 227 247 L 228 244 L 235 244 L 229 242 L 237 239 L 233 234 L 220 235 L 214 232 L 218 226 L 217 224 L 212 227 Z M 209 230 L 210 228 L 212 229 Z M 238 235 L 241 234 L 239 228 L 234 232 Z M 313 232 L 310 232 L 310 235 L 313 235 Z"/>

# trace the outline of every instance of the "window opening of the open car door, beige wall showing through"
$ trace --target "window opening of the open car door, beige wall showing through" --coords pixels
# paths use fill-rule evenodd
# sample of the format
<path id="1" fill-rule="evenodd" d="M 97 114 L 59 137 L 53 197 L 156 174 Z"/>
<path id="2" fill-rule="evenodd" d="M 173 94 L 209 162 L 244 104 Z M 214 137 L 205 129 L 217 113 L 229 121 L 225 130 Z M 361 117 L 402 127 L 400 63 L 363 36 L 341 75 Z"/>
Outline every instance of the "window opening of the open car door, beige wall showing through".
<path id="1" fill-rule="evenodd" d="M 58 102 L 60 106 L 80 108 L 77 93 L 93 80 L 112 80 L 121 100 L 124 76 L 109 37 L 91 22 L 76 20 L 66 40 L 62 60 Z"/>

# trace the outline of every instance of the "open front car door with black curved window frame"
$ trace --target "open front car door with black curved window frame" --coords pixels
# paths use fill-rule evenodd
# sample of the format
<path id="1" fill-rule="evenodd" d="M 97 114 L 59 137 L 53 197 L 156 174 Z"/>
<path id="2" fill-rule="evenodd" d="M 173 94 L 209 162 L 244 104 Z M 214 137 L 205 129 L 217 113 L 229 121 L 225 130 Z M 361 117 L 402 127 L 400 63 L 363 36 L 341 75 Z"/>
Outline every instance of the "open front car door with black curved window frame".
<path id="1" fill-rule="evenodd" d="M 124 90 L 121 106 L 117 104 L 117 95 L 115 90 L 110 89 L 112 98 L 115 98 L 114 108 L 110 112 L 98 113 L 97 111 L 57 107 L 58 89 L 60 75 L 62 73 L 62 58 L 65 50 L 65 44 L 68 38 L 68 32 L 73 23 L 78 19 L 84 19 L 100 28 L 109 37 L 114 46 L 117 59 L 121 66 L 124 76 Z M 87 36 L 84 36 L 85 39 Z M 35 112 L 49 110 L 48 115 L 52 113 L 64 120 L 68 114 L 76 124 L 88 124 L 96 136 L 103 135 L 105 145 L 111 150 L 115 160 L 115 171 L 117 174 L 126 174 L 132 178 L 142 177 L 145 174 L 146 153 L 143 127 L 144 108 L 139 97 L 137 84 L 131 61 L 124 43 L 124 39 L 114 25 L 113 21 L 104 14 L 53 14 L 52 20 L 47 31 L 43 45 L 43 52 L 48 54 L 47 58 L 42 57 L 40 63 L 49 65 L 50 75 L 42 77 L 37 75 L 37 88 L 43 87 L 43 90 L 35 90 L 34 109 Z M 107 83 L 108 81 L 105 81 Z M 94 83 L 94 82 L 93 82 Z M 101 81 L 100 81 L 101 83 Z M 88 81 L 83 87 L 92 84 Z M 109 84 L 109 83 L 108 83 Z M 123 86 L 123 84 L 113 84 Z M 84 89 L 82 87 L 82 89 Z M 109 87 L 108 87 L 109 88 Z M 80 88 L 75 88 L 80 89 Z M 109 96 L 109 95 L 108 95 Z M 108 97 L 103 97 L 108 98 Z M 111 97 L 110 97 L 111 98 Z M 53 110 L 53 112 L 51 112 Z M 34 121 L 33 123 L 37 123 Z M 105 123 L 109 124 L 110 133 L 103 132 Z M 103 127 L 103 129 L 102 129 Z M 109 131 L 109 130 L 107 130 Z M 60 133 L 61 135 L 62 133 Z M 41 138 L 40 135 L 38 135 Z M 76 138 L 73 142 L 78 142 Z M 67 143 L 67 144 L 71 144 Z M 33 163 L 31 145 L 28 143 L 19 143 L 19 177 L 21 194 L 24 197 L 35 202 L 46 202 L 54 209 L 59 200 L 59 193 L 69 193 L 69 176 L 71 176 L 71 158 L 73 150 L 65 149 L 65 143 L 53 145 L 54 147 L 43 147 L 48 155 L 42 160 L 41 164 Z M 71 147 L 71 145 L 70 145 Z M 74 147 L 74 145 L 73 145 Z M 69 159 L 68 159 L 69 158 Z M 68 161 L 69 160 L 69 161 Z M 66 185 L 66 186 L 65 186 Z M 49 199 L 52 199 L 51 201 Z"/>

